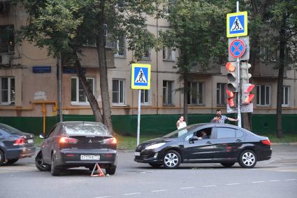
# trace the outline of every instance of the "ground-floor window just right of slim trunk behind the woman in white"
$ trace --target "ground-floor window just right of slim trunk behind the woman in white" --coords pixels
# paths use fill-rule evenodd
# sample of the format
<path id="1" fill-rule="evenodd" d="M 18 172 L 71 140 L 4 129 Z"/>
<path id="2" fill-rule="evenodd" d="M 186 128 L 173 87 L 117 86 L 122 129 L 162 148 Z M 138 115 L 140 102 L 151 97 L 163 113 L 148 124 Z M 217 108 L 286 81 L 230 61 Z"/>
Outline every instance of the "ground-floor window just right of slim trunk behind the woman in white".
<path id="1" fill-rule="evenodd" d="M 188 82 L 188 104 L 202 105 L 203 104 L 203 83 Z"/>

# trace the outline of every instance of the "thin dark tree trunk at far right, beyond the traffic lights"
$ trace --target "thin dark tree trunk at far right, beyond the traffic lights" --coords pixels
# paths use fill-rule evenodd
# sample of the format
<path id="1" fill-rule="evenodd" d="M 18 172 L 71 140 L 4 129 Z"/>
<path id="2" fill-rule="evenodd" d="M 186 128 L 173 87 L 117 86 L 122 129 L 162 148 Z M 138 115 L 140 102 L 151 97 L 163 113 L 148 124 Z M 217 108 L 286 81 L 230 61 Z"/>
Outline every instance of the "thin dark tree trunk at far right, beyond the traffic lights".
<path id="1" fill-rule="evenodd" d="M 284 81 L 284 52 L 286 47 L 286 19 L 283 17 L 280 27 L 280 65 L 277 78 L 277 138 L 282 138 L 282 83 Z"/>

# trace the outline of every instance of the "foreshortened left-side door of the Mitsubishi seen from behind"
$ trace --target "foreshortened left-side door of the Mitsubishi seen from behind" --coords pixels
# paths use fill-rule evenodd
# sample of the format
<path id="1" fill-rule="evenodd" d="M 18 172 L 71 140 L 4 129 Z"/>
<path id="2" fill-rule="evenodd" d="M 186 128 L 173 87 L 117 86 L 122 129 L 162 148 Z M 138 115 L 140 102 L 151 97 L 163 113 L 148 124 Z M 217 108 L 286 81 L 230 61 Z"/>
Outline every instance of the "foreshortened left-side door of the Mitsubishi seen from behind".
<path id="1" fill-rule="evenodd" d="M 51 152 L 52 152 L 52 143 L 55 139 L 56 134 L 59 132 L 59 123 L 52 127 L 50 130 L 50 133 L 45 136 L 45 139 L 43 141 L 42 150 L 43 150 L 43 160 L 45 162 L 50 163 L 51 160 Z"/>

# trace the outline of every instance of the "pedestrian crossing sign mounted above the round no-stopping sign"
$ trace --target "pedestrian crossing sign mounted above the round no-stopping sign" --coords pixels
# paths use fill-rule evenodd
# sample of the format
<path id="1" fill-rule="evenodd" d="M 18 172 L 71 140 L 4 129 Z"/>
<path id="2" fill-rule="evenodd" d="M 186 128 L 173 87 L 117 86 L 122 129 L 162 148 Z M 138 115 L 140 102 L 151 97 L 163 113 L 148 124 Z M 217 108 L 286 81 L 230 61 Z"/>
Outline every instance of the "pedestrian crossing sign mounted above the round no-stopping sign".
<path id="1" fill-rule="evenodd" d="M 227 14 L 227 37 L 247 36 L 247 11 Z"/>

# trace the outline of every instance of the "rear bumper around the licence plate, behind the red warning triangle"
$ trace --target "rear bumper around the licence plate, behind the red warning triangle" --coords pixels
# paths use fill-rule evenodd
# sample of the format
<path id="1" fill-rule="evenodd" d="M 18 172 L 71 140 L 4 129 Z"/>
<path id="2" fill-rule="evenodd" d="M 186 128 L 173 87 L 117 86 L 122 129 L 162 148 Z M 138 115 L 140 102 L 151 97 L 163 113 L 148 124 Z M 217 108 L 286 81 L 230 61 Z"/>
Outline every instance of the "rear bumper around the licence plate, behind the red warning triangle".
<path id="1" fill-rule="evenodd" d="M 100 155 L 100 160 L 80 160 L 80 155 Z M 117 150 L 60 150 L 57 165 L 61 167 L 117 167 Z"/>

